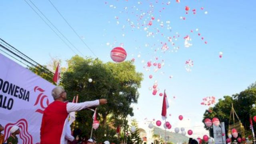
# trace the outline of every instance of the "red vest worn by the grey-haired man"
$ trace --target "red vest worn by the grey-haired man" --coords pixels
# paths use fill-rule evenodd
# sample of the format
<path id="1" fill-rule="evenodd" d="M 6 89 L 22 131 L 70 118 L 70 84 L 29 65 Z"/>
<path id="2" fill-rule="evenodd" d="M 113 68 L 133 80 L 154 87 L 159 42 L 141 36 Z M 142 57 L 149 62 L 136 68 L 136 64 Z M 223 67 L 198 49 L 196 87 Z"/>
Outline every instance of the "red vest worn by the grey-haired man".
<path id="1" fill-rule="evenodd" d="M 60 144 L 65 120 L 68 117 L 67 103 L 54 101 L 45 110 L 42 118 L 40 144 Z"/>

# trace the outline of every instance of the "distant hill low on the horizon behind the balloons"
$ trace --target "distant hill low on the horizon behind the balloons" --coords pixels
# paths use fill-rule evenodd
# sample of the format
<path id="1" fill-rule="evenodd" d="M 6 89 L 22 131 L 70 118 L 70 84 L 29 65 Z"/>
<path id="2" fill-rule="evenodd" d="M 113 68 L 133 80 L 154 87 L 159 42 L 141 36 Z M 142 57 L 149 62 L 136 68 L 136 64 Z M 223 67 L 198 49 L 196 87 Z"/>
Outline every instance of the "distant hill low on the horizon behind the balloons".
<path id="1" fill-rule="evenodd" d="M 157 135 L 160 134 L 162 139 L 164 140 L 165 130 L 154 126 L 154 134 L 157 134 Z M 168 130 L 166 130 L 166 138 L 167 140 L 169 139 L 169 142 L 173 142 L 174 144 L 183 143 L 183 142 L 188 143 L 188 139 L 189 139 L 188 136 L 183 136 L 180 133 L 176 134 L 175 132 L 169 132 Z"/>

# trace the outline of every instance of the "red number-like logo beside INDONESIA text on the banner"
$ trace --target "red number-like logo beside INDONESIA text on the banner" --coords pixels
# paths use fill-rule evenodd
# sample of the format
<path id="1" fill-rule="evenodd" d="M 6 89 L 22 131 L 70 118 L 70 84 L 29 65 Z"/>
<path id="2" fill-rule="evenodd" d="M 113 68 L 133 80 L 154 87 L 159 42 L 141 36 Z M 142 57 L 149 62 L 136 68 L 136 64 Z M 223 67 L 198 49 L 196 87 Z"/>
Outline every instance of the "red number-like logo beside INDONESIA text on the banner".
<path id="1" fill-rule="evenodd" d="M 43 92 L 44 92 L 45 90 L 43 90 L 42 88 L 40 88 L 40 87 L 38 87 L 38 86 L 35 86 L 35 87 L 34 87 L 34 92 L 36 92 L 36 91 L 39 91 L 39 92 L 41 92 L 41 93 L 38 94 L 34 106 L 36 106 L 36 105 L 39 104 L 39 102 L 40 102 L 41 108 L 40 108 L 40 109 L 37 109 L 36 112 L 39 112 L 39 113 L 43 114 L 44 110 L 47 108 L 47 106 L 49 106 L 49 99 L 48 99 L 48 96 L 44 95 Z M 44 106 L 44 99 L 46 99 L 46 106 Z"/>

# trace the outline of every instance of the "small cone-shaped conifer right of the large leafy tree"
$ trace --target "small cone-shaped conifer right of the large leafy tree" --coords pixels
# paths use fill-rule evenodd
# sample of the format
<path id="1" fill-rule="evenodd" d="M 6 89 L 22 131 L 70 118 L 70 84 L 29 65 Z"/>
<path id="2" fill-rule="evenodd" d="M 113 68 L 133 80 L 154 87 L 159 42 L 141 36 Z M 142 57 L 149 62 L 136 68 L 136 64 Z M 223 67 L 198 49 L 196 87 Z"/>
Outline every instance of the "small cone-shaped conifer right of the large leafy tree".
<path id="1" fill-rule="evenodd" d="M 134 126 L 136 128 L 135 132 L 131 131 L 131 127 Z M 131 127 L 130 127 L 130 135 L 128 136 L 128 144 L 141 144 L 141 138 L 140 138 L 140 132 L 138 129 L 138 123 L 135 119 L 132 119 L 132 123 L 131 123 Z"/>

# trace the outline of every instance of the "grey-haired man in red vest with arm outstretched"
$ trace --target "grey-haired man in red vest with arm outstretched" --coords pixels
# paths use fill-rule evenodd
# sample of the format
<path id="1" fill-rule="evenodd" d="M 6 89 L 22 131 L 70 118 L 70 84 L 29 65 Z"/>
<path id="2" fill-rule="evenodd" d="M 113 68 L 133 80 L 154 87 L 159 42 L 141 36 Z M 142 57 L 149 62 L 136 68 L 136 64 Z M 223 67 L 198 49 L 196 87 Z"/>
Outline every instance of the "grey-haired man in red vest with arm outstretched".
<path id="1" fill-rule="evenodd" d="M 52 90 L 52 96 L 54 102 L 44 110 L 40 129 L 40 144 L 64 144 L 70 112 L 108 103 L 106 99 L 81 103 L 65 102 L 67 94 L 60 86 Z"/>

